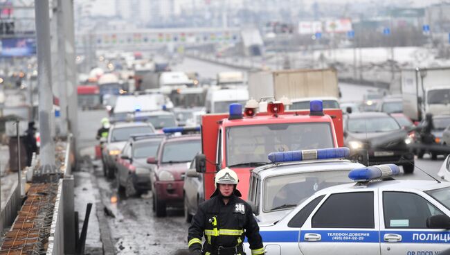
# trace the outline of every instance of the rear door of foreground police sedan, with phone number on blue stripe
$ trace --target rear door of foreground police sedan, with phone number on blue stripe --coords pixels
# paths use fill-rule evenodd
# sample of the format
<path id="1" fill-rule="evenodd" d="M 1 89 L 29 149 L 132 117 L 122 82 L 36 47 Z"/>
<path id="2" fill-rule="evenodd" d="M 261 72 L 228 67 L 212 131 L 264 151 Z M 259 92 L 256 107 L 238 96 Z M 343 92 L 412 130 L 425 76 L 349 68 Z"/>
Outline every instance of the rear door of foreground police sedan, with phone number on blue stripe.
<path id="1" fill-rule="evenodd" d="M 373 191 L 325 197 L 300 228 L 303 255 L 379 255 L 378 199 Z"/>

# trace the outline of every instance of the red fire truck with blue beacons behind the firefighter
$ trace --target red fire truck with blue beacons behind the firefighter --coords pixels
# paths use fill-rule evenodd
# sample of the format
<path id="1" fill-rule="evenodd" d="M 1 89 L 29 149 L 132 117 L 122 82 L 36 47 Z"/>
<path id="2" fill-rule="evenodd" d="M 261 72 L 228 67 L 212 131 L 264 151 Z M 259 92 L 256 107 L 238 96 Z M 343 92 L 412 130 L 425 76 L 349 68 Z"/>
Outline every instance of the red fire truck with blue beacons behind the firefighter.
<path id="1" fill-rule="evenodd" d="M 231 104 L 228 114 L 202 116 L 202 153 L 195 157 L 197 172 L 204 173 L 201 198 L 215 191 L 214 176 L 222 168 L 235 170 L 246 199 L 251 170 L 269 164 L 269 153 L 343 146 L 340 109 L 323 109 L 321 100 L 312 100 L 309 110 L 285 111 L 288 102 L 249 100 L 244 111 Z"/>

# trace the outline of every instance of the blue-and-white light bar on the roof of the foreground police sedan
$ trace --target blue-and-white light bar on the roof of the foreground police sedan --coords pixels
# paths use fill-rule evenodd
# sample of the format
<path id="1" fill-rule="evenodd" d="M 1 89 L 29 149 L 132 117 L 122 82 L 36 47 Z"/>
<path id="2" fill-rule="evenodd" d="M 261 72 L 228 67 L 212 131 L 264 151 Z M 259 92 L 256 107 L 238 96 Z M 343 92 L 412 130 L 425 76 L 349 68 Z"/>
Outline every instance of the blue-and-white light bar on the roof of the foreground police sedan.
<path id="1" fill-rule="evenodd" d="M 348 177 L 355 182 L 367 182 L 371 179 L 384 179 L 386 177 L 398 175 L 399 173 L 400 168 L 397 165 L 384 164 L 353 169 L 348 173 Z"/>

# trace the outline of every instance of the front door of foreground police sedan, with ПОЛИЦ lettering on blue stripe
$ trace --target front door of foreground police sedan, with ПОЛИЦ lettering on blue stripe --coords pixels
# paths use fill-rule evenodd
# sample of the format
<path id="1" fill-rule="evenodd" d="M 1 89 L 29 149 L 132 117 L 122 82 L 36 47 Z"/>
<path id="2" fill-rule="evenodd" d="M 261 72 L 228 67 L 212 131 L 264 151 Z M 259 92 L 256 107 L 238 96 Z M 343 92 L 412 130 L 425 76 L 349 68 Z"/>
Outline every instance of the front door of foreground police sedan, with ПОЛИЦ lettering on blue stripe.
<path id="1" fill-rule="evenodd" d="M 447 211 L 431 197 L 415 191 L 379 191 L 379 200 L 382 255 L 434 255 L 449 247 L 450 231 L 426 227 L 427 218 Z"/>

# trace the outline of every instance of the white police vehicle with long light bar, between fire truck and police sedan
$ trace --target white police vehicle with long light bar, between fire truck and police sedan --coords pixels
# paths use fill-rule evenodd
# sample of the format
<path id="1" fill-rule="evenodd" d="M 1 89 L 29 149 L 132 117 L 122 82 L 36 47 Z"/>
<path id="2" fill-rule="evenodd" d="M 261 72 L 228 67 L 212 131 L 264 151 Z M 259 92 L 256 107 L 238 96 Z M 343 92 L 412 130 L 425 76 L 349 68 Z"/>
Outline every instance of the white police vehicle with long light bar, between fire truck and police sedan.
<path id="1" fill-rule="evenodd" d="M 363 164 L 344 159 L 348 148 L 273 152 L 273 164 L 253 169 L 248 202 L 258 222 L 273 222 L 316 191 L 352 182 L 348 172 Z"/>

